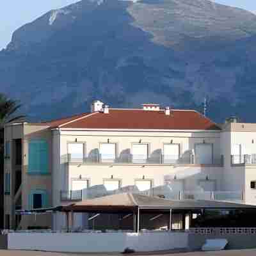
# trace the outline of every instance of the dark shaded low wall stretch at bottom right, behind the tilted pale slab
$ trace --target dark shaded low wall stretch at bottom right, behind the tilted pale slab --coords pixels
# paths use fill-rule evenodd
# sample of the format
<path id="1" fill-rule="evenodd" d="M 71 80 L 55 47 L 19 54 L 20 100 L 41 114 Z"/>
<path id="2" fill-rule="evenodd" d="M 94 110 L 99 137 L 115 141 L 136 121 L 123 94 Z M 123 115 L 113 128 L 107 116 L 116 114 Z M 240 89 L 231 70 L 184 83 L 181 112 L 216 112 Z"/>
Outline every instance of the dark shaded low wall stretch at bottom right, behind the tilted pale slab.
<path id="1" fill-rule="evenodd" d="M 191 250 L 200 250 L 206 239 L 225 238 L 228 240 L 227 249 L 252 249 L 256 248 L 256 234 L 189 234 L 188 244 Z"/>

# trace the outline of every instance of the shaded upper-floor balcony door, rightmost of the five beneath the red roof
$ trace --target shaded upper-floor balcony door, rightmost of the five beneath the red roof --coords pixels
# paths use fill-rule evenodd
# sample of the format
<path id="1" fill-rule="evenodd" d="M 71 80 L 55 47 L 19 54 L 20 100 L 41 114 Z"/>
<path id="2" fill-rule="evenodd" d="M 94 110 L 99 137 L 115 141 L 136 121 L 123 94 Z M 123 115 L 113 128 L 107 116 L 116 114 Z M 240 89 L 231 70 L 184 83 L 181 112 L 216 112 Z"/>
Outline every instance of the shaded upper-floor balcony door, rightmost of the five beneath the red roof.
<path id="1" fill-rule="evenodd" d="M 212 144 L 202 143 L 195 145 L 195 163 L 212 164 Z"/>

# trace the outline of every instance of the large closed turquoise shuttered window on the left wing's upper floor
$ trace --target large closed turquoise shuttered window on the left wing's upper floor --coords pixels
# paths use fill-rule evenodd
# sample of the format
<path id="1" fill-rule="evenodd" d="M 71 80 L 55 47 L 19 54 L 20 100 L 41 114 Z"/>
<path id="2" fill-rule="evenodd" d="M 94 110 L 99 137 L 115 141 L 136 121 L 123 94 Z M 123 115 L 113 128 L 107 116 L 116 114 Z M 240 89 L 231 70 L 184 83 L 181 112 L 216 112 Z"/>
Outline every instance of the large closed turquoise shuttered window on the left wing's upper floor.
<path id="1" fill-rule="evenodd" d="M 49 173 L 49 148 L 45 140 L 29 141 L 28 173 Z"/>

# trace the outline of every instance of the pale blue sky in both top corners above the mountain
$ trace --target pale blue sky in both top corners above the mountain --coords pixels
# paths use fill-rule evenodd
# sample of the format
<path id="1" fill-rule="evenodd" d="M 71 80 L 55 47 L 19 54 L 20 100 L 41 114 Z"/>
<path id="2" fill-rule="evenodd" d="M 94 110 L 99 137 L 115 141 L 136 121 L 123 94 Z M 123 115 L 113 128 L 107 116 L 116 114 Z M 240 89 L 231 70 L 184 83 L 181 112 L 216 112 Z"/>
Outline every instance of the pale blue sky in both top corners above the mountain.
<path id="1" fill-rule="evenodd" d="M 0 50 L 10 42 L 12 33 L 20 26 L 40 17 L 52 9 L 61 8 L 78 0 L 1 0 Z M 212 0 L 213 1 L 213 0 Z M 214 0 L 217 3 L 237 6 L 256 13 L 255 0 Z"/>

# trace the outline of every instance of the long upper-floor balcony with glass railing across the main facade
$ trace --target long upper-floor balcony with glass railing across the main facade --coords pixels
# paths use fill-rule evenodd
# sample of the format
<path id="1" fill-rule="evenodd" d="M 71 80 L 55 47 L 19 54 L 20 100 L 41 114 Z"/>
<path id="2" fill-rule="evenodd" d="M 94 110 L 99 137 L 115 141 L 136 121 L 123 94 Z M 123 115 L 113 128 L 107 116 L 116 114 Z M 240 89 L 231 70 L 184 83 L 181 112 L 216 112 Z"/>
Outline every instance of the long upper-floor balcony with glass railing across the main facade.
<path id="1" fill-rule="evenodd" d="M 95 154 L 93 156 L 83 157 L 67 155 L 68 163 L 81 163 L 81 164 L 216 164 L 223 165 L 223 156 L 214 158 L 210 163 L 196 163 L 195 156 L 193 154 L 180 157 L 172 155 L 132 155 L 132 154 L 120 154 L 118 157 L 108 154 Z"/>

